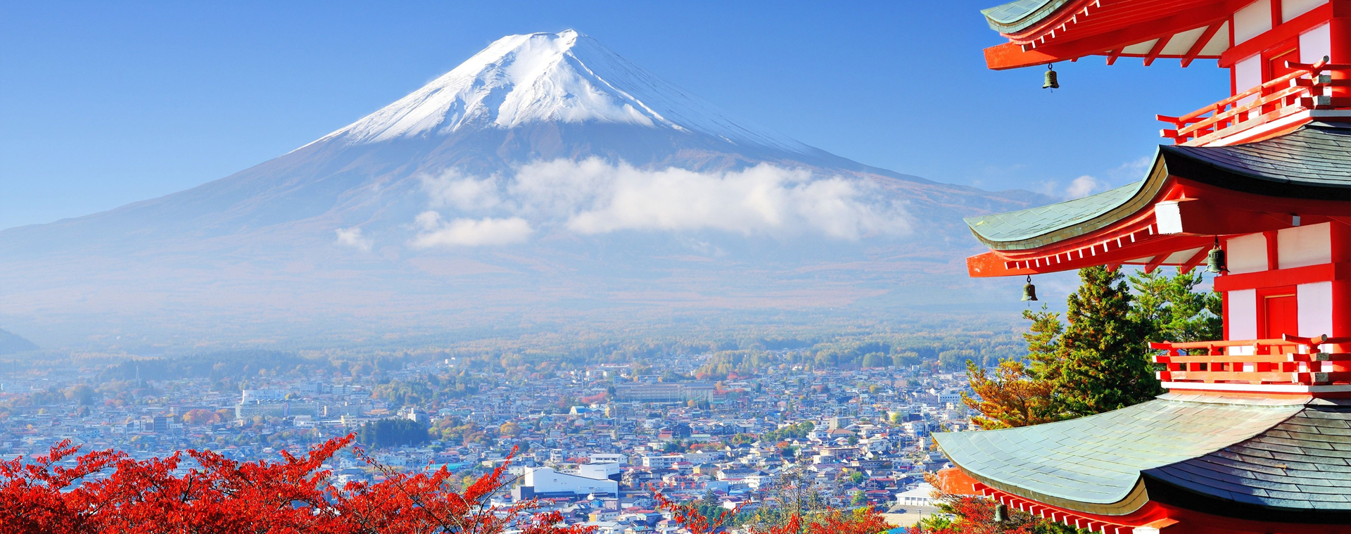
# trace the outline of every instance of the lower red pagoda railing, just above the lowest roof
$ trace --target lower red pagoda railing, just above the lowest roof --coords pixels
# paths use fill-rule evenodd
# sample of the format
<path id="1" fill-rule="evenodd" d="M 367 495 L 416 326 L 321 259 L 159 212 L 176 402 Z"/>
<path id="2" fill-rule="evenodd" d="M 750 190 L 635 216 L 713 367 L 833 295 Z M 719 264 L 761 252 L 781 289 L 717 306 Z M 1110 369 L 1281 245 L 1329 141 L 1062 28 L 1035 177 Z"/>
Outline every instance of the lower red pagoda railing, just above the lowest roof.
<path id="1" fill-rule="evenodd" d="M 1150 349 L 1167 351 L 1154 357 L 1155 364 L 1166 366 L 1158 372 L 1159 381 L 1165 383 L 1298 385 L 1351 383 L 1351 354 L 1320 351 L 1319 346 L 1325 343 L 1351 343 L 1351 338 L 1283 335 L 1281 339 L 1150 343 Z M 1252 350 L 1251 354 L 1227 354 L 1231 347 Z M 1194 354 L 1197 351 L 1204 354 Z"/>

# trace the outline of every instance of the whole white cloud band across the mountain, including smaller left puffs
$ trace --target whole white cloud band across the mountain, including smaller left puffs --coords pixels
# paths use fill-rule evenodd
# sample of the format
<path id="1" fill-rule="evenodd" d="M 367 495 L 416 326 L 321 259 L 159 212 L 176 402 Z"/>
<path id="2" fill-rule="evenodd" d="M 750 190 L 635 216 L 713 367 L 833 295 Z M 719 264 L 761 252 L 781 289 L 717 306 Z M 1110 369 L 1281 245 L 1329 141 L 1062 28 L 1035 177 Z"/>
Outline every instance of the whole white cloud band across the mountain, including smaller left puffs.
<path id="1" fill-rule="evenodd" d="M 532 226 L 576 234 L 715 230 L 847 241 L 911 231 L 904 208 L 869 181 L 769 164 L 701 173 L 554 160 L 524 165 L 511 177 L 447 172 L 423 185 L 431 207 L 453 210 L 457 219 L 422 214 L 416 247 L 513 243 L 528 238 Z"/>

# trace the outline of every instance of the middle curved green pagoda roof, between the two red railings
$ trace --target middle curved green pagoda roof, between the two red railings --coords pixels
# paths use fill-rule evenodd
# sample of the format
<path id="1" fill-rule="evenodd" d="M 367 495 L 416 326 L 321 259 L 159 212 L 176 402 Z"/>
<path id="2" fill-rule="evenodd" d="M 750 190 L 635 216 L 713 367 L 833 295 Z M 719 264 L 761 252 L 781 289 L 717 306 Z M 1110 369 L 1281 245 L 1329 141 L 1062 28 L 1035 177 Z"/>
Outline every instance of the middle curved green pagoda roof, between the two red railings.
<path id="1" fill-rule="evenodd" d="M 994 250 L 1054 245 L 1148 208 L 1170 177 L 1265 196 L 1351 200 L 1351 124 L 1309 123 L 1244 145 L 1159 146 L 1142 181 L 1056 204 L 966 218 L 966 224 Z"/>

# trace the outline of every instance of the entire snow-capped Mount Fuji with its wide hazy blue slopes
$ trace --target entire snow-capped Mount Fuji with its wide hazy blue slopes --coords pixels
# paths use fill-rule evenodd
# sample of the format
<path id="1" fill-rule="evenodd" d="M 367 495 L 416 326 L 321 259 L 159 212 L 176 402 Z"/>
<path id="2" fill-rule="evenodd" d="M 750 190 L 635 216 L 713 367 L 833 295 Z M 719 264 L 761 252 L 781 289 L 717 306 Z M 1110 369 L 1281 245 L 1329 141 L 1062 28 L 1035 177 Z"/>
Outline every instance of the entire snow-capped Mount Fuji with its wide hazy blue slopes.
<path id="1" fill-rule="evenodd" d="M 1046 201 L 804 145 L 576 31 L 511 35 L 250 169 L 0 231 L 0 326 L 43 346 L 323 346 L 979 304 L 961 219 Z"/>

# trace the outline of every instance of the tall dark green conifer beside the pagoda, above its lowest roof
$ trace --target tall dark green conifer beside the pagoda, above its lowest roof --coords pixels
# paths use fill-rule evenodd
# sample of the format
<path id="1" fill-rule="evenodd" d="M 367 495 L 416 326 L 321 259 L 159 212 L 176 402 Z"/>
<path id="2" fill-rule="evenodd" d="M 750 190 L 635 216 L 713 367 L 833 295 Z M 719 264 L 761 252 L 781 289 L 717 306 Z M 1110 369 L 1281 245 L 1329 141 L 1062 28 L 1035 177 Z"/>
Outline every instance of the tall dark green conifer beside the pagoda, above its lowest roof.
<path id="1" fill-rule="evenodd" d="M 1147 341 L 1154 324 L 1138 319 L 1120 272 L 1079 269 L 1061 335 L 1056 396 L 1075 415 L 1101 414 L 1143 403 L 1161 393 Z"/>

